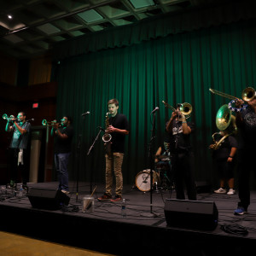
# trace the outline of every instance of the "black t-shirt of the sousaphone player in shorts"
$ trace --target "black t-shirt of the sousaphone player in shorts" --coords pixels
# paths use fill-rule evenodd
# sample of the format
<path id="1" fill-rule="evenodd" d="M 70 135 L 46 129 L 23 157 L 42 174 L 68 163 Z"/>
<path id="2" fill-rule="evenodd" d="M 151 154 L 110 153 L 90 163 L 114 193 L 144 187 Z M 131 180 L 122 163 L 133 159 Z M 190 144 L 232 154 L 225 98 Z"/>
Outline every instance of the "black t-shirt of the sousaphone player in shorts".
<path id="1" fill-rule="evenodd" d="M 212 152 L 212 157 L 214 160 L 227 160 L 230 156 L 231 148 L 237 148 L 238 143 L 236 141 L 236 137 L 229 136 L 224 139 L 218 149 Z M 236 154 L 235 154 L 236 157 Z M 234 157 L 234 158 L 235 158 Z"/>

